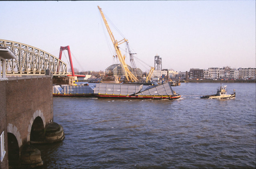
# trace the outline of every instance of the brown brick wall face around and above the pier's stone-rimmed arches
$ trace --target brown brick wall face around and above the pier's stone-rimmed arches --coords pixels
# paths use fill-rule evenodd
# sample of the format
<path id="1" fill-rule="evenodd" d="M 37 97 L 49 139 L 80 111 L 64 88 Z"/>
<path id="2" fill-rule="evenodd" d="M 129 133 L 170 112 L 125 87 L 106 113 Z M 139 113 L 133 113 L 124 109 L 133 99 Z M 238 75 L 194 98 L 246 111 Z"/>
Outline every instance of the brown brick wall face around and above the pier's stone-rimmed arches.
<path id="1" fill-rule="evenodd" d="M 8 132 L 16 136 L 19 147 L 30 141 L 31 127 L 36 117 L 42 119 L 44 128 L 52 123 L 52 97 L 51 75 L 8 77 L 6 85 Z"/>

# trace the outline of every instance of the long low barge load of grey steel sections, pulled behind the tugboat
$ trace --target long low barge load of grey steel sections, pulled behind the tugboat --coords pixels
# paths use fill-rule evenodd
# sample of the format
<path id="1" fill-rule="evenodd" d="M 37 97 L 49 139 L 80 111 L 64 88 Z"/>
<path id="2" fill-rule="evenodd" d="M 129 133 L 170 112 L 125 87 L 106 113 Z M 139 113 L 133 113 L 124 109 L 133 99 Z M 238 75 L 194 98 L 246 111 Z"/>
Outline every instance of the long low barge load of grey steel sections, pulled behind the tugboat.
<path id="1" fill-rule="evenodd" d="M 94 85 L 55 85 L 53 96 L 130 98 L 130 99 L 178 99 L 180 94 L 172 90 L 170 83 L 158 86 L 134 84 L 96 83 Z"/>

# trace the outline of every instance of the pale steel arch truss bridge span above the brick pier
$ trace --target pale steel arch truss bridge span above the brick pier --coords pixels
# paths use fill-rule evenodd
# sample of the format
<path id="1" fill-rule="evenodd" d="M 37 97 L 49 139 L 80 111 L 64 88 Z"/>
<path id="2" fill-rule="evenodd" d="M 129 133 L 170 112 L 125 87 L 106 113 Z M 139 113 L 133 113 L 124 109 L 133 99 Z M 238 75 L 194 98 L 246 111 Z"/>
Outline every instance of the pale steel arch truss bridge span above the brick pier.
<path id="1" fill-rule="evenodd" d="M 66 63 L 41 49 L 4 39 L 0 46 L 8 47 L 17 57 L 6 60 L 6 75 L 45 75 L 46 70 L 54 76 L 68 75 Z"/>

